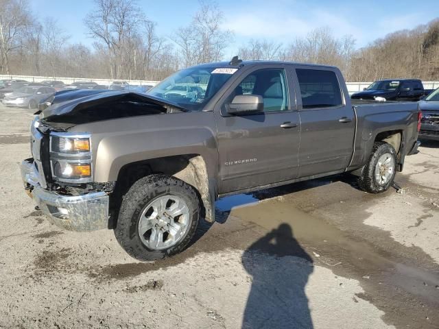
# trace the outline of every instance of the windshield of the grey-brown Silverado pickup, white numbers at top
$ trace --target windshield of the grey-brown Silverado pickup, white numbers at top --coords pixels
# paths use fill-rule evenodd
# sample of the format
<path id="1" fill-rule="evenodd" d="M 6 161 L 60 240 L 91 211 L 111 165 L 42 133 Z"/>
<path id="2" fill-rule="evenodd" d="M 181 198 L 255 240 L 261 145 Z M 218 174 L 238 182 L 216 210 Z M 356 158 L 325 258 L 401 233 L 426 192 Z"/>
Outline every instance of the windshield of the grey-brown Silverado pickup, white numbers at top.
<path id="1" fill-rule="evenodd" d="M 200 111 L 237 69 L 191 67 L 174 73 L 147 91 L 147 95 L 167 99 L 187 110 Z"/>

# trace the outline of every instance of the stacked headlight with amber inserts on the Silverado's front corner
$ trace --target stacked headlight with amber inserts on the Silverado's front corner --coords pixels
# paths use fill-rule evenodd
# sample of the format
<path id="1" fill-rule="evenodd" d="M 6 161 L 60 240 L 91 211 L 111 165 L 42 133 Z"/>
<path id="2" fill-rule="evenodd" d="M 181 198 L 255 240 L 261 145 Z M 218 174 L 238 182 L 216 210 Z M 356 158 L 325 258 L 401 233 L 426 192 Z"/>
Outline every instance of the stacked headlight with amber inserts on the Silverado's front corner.
<path id="1" fill-rule="evenodd" d="M 54 180 L 93 182 L 90 134 L 51 132 L 49 148 Z"/>

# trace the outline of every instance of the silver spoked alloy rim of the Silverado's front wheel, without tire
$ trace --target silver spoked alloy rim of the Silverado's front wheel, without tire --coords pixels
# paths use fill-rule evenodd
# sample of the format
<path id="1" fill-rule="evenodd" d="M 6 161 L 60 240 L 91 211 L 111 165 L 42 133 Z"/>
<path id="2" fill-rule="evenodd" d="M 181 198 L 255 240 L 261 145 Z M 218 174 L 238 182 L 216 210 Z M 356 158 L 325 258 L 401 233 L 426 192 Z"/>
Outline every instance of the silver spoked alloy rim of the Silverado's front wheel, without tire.
<path id="1" fill-rule="evenodd" d="M 175 195 L 158 197 L 141 212 L 139 236 L 149 249 L 167 249 L 185 236 L 190 221 L 189 208 L 183 199 Z"/>

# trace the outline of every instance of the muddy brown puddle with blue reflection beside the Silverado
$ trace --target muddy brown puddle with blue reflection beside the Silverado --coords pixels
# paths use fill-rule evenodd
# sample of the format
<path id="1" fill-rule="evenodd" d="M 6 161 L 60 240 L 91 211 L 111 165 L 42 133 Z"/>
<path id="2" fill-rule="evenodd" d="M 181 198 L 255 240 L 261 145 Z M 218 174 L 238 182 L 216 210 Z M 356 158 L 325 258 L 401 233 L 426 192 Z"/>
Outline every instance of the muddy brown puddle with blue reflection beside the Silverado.
<path id="1" fill-rule="evenodd" d="M 88 276 L 97 282 L 129 280 L 146 272 L 166 270 L 201 252 L 219 252 L 227 248 L 248 250 L 256 241 L 272 236 L 270 234 L 279 232 L 286 225 L 291 229 L 296 245 L 300 246 L 297 249 L 302 250 L 300 254 L 297 254 L 298 250 L 294 251 L 294 245 L 291 247 L 288 243 L 284 244 L 285 249 L 269 245 L 258 250 L 280 259 L 291 254 L 305 260 L 312 258 L 313 266 L 328 267 L 335 276 L 359 280 L 364 293 L 357 297 L 383 310 L 383 319 L 397 328 L 407 325 L 419 328 L 420 319 L 427 318 L 431 324 L 437 324 L 439 289 L 436 288 L 436 278 L 439 276 L 438 267 L 431 258 L 418 247 L 397 243 L 390 238 L 389 232 L 378 228 L 344 231 L 325 220 L 326 217 L 310 215 L 309 212 L 316 208 L 350 200 L 357 206 L 343 214 L 344 218 L 363 223 L 369 214 L 358 205 L 375 199 L 373 195 L 346 188 L 344 182 L 331 186 L 327 181 L 313 184 L 326 186 L 316 189 L 313 185 L 309 187 L 310 184 L 293 185 L 219 199 L 217 212 L 224 215 L 224 221 L 209 224 L 208 230 L 203 231 L 198 240 L 181 254 L 152 263 L 107 265 L 88 272 Z M 276 198 L 259 202 L 266 197 Z M 370 236 L 379 236 L 379 239 Z M 411 255 L 410 258 L 405 258 L 407 254 Z M 414 263 L 401 265 L 410 260 Z M 405 313 L 401 315 L 394 305 L 404 305 Z"/>

